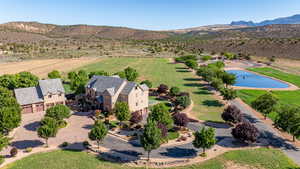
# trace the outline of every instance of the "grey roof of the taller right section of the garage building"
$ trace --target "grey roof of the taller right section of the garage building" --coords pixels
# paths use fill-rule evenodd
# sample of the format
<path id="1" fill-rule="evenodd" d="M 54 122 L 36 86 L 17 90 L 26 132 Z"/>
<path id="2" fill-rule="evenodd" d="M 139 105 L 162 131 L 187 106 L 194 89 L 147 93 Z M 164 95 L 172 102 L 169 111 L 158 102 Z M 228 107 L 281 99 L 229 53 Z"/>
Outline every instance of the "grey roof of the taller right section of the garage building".
<path id="1" fill-rule="evenodd" d="M 60 79 L 39 80 L 39 86 L 41 88 L 43 96 L 47 95 L 48 93 L 65 93 L 65 89 Z"/>

